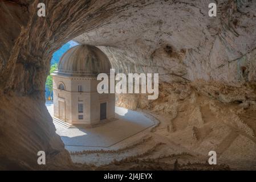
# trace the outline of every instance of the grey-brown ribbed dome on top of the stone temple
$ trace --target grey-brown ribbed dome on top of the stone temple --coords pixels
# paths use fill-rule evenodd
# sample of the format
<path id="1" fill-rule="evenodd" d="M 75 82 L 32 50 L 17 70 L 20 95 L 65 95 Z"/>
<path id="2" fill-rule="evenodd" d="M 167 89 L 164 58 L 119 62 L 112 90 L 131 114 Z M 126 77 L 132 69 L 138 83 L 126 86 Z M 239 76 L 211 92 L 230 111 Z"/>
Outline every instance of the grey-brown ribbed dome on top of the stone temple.
<path id="1" fill-rule="evenodd" d="M 99 73 L 109 73 L 111 64 L 108 57 L 97 47 L 78 45 L 68 49 L 60 58 L 59 75 L 96 76 Z"/>

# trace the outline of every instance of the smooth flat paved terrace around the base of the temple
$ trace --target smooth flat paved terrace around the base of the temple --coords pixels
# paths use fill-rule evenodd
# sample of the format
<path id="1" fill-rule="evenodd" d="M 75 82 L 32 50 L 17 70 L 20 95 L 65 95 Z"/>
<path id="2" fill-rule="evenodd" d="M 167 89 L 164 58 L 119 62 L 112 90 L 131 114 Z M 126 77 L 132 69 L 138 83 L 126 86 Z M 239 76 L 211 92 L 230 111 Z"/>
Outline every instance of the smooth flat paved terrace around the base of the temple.
<path id="1" fill-rule="evenodd" d="M 52 115 L 52 104 L 46 104 Z M 155 122 L 137 111 L 116 107 L 116 120 L 97 127 L 64 127 L 54 122 L 56 133 L 60 135 L 68 151 L 101 150 L 150 129 Z"/>

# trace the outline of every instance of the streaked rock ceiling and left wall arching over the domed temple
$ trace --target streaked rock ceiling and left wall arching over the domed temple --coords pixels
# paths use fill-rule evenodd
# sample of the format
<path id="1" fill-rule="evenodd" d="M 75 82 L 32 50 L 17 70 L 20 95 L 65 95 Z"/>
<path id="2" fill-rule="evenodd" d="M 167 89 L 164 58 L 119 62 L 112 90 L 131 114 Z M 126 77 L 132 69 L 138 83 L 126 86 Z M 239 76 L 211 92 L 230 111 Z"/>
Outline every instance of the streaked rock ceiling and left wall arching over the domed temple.
<path id="1" fill-rule="evenodd" d="M 51 55 L 68 40 L 99 46 L 119 72 L 160 73 L 162 82 L 255 81 L 255 1 L 0 2 L 1 168 L 70 168 L 44 106 Z M 48 165 L 36 164 L 46 151 Z"/>

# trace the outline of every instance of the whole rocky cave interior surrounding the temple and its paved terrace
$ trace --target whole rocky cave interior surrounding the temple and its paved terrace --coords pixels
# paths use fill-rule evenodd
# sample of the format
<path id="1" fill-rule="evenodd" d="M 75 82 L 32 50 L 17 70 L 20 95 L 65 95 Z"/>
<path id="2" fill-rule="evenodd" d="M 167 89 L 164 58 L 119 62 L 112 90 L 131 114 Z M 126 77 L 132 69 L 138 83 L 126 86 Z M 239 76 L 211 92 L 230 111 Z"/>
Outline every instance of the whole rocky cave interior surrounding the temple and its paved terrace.
<path id="1" fill-rule="evenodd" d="M 216 17 L 209 3 L 1 1 L 0 169 L 256 169 L 256 2 L 216 1 Z M 131 146 L 107 151 L 134 155 L 74 163 L 77 152 L 55 133 L 45 82 L 52 54 L 70 40 L 99 48 L 117 73 L 159 73 L 156 100 L 116 94 L 116 106 L 159 121 Z M 205 164 L 209 151 L 217 165 Z"/>

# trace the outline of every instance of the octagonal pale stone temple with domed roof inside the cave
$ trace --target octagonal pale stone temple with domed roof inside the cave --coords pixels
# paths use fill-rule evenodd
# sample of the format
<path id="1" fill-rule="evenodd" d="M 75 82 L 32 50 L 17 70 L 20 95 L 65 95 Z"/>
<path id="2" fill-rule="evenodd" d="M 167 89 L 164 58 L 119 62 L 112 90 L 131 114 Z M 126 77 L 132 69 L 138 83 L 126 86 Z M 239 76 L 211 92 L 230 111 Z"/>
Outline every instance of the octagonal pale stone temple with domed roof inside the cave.
<path id="1" fill-rule="evenodd" d="M 97 47 L 83 44 L 64 53 L 52 73 L 54 117 L 88 127 L 115 118 L 115 94 L 97 92 L 97 75 L 110 69 L 108 57 Z"/>

